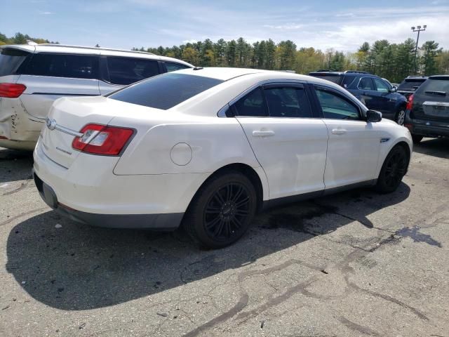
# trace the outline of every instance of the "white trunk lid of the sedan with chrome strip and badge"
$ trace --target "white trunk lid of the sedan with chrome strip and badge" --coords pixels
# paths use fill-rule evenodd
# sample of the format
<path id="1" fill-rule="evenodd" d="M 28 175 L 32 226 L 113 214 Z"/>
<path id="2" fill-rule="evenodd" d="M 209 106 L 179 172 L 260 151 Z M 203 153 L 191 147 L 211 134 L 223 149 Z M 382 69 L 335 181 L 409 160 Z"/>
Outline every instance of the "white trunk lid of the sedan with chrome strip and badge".
<path id="1" fill-rule="evenodd" d="M 41 133 L 43 152 L 68 169 L 80 154 L 72 148 L 76 133 L 86 124 L 109 124 L 120 105 L 123 103 L 102 96 L 55 100 Z"/>

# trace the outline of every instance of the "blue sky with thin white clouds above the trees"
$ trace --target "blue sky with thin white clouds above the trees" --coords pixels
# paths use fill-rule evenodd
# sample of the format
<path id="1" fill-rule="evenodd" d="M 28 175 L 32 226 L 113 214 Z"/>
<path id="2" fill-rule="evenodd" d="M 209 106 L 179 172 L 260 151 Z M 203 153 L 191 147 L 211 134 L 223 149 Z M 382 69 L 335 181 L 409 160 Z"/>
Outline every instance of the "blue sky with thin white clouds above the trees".
<path id="1" fill-rule="evenodd" d="M 449 0 L 0 0 L 0 32 L 62 44 L 125 48 L 243 37 L 322 51 L 416 38 L 449 48 Z"/>

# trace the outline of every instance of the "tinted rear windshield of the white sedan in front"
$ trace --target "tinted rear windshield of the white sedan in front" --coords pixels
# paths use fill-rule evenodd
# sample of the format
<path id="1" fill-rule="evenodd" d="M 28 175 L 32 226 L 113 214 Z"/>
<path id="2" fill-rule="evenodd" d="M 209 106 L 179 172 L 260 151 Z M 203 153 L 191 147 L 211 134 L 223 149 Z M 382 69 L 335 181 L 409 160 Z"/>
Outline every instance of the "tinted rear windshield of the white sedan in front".
<path id="1" fill-rule="evenodd" d="M 222 82 L 220 79 L 171 72 L 128 86 L 108 97 L 167 110 Z"/>

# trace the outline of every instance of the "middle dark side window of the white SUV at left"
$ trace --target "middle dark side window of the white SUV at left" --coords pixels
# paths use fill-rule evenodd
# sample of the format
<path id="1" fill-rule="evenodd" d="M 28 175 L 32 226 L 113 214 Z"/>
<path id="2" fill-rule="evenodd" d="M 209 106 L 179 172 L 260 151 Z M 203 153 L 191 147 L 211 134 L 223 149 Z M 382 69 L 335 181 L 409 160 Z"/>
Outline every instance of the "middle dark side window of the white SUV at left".
<path id="1" fill-rule="evenodd" d="M 108 56 L 107 68 L 111 83 L 125 86 L 159 74 L 159 64 L 156 60 L 142 58 Z"/>

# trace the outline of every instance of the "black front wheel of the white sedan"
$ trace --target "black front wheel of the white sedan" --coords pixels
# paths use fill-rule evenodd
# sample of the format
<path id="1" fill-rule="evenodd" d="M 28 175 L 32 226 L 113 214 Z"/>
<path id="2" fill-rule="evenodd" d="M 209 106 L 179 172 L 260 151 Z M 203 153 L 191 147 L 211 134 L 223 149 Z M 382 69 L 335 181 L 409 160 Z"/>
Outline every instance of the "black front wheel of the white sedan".
<path id="1" fill-rule="evenodd" d="M 391 193 L 396 191 L 401 184 L 403 176 L 406 175 L 410 158 L 408 152 L 401 145 L 396 145 L 384 160 L 382 169 L 377 178 L 376 190 L 380 193 Z"/>

